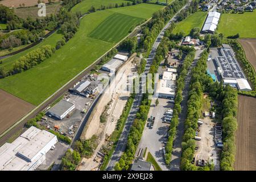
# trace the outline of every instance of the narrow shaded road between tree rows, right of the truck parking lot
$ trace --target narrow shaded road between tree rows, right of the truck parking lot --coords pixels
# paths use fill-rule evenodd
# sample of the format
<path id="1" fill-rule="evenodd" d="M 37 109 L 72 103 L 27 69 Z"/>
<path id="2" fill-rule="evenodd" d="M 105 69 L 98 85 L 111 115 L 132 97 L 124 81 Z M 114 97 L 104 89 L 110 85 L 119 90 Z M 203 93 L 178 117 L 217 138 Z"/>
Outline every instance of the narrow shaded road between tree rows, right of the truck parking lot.
<path id="1" fill-rule="evenodd" d="M 181 142 L 184 134 L 184 122 L 187 117 L 187 101 L 188 101 L 188 92 L 189 92 L 189 83 L 191 81 L 191 69 L 196 66 L 196 63 L 200 57 L 200 54 L 203 50 L 199 49 L 196 51 L 195 59 L 188 70 L 187 76 L 185 77 L 185 86 L 182 92 L 183 100 L 181 101 L 181 113 L 179 117 L 179 125 L 177 126 L 177 134 L 174 139 L 174 146 L 172 150 L 172 160 L 170 163 L 171 171 L 179 171 L 180 170 L 180 158 L 181 158 Z"/>

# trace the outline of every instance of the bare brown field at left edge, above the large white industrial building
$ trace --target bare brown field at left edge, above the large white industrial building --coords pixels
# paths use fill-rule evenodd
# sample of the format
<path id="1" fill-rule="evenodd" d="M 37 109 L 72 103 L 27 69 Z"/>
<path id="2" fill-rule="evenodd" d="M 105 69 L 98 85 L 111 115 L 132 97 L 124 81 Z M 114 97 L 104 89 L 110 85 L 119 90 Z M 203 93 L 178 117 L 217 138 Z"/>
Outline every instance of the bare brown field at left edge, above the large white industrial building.
<path id="1" fill-rule="evenodd" d="M 0 134 L 35 106 L 0 89 Z"/>

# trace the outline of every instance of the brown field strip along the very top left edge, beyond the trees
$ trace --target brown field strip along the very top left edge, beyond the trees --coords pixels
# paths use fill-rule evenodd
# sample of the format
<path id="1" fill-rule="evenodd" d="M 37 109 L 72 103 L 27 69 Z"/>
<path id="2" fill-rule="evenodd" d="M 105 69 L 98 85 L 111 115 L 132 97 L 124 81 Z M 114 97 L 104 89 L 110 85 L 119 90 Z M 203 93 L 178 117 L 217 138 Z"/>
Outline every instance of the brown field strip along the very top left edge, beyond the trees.
<path id="1" fill-rule="evenodd" d="M 44 0 L 45 3 L 48 3 L 48 0 Z M 55 2 L 59 2 L 59 0 L 55 0 Z M 24 4 L 24 7 L 30 7 L 38 5 L 38 0 L 2 0 L 0 4 L 7 7 L 20 7 L 20 5 Z"/>

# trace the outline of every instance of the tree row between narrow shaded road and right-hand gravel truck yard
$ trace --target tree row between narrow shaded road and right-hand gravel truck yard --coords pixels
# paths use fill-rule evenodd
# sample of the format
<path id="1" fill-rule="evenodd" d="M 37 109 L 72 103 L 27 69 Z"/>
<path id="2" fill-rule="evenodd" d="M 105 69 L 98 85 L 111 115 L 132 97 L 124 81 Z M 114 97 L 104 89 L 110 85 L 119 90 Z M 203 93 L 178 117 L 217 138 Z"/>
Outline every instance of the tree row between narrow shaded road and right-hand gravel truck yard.
<path id="1" fill-rule="evenodd" d="M 203 98 L 203 85 L 209 76 L 205 74 L 207 69 L 207 51 L 201 54 L 197 61 L 196 67 L 191 72 L 191 82 L 189 85 L 188 101 L 187 101 L 187 118 L 184 123 L 185 131 L 182 138 L 182 155 L 180 168 L 184 171 L 210 170 L 212 166 L 197 167 L 192 164 L 195 154 L 195 133 L 197 129 L 197 120 L 199 119 L 200 109 Z"/>

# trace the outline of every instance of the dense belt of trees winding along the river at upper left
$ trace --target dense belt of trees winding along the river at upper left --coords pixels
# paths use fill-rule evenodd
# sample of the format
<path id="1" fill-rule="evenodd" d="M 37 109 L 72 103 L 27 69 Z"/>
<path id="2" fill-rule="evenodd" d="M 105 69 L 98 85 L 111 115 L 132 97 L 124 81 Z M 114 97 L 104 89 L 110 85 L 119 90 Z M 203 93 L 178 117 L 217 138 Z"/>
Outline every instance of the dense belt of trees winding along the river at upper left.
<path id="1" fill-rule="evenodd" d="M 71 13 L 70 7 L 75 6 L 81 0 L 63 1 L 63 7 L 56 15 L 47 15 L 43 19 L 19 18 L 14 14 L 14 10 L 0 5 L 0 22 L 7 24 L 7 30 L 17 30 L 0 37 L 0 49 L 10 49 L 20 45 L 26 45 L 38 40 L 42 40 L 47 31 L 53 31 L 60 28 L 60 33 L 64 35 L 66 42 L 73 37 L 79 27 L 80 13 Z M 15 36 L 15 38 L 14 38 Z M 16 39 L 15 44 L 10 43 L 11 39 Z"/>

